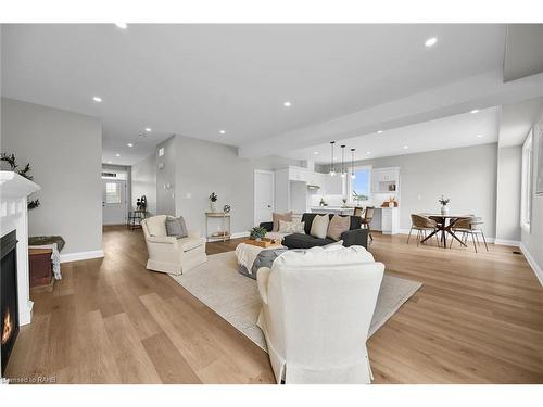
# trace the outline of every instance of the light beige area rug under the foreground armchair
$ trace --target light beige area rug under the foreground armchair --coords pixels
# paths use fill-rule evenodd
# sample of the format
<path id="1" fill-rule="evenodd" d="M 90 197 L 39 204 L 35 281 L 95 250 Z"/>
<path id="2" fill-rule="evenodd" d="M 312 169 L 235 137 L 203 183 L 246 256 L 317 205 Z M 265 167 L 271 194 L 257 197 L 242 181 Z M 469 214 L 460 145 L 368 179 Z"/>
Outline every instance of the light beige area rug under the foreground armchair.
<path id="1" fill-rule="evenodd" d="M 267 352 L 266 341 L 256 326 L 261 297 L 256 281 L 238 272 L 235 252 L 207 256 L 203 265 L 172 276 L 202 303 Z M 420 282 L 392 277 L 384 272 L 374 318 L 371 336 L 421 287 Z"/>

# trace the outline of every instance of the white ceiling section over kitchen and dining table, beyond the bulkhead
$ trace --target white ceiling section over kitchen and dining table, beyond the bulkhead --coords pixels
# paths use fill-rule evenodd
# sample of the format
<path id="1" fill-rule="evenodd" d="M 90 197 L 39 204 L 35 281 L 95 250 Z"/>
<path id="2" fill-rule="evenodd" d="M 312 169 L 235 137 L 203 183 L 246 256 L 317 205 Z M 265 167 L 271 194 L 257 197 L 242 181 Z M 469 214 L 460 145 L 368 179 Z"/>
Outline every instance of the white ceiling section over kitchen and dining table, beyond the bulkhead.
<path id="1" fill-rule="evenodd" d="M 341 160 L 341 144 L 346 145 L 345 161 L 351 161 L 350 149 L 356 149 L 355 160 L 358 161 L 497 142 L 497 107 L 490 107 L 478 113 L 449 116 L 386 130 L 382 133 L 372 132 L 348 140 L 336 140 L 334 156 Z M 482 137 L 478 137 L 479 135 Z M 313 160 L 317 164 L 328 164 L 331 150 L 329 143 L 324 143 L 293 150 L 286 155 L 295 160 Z"/>

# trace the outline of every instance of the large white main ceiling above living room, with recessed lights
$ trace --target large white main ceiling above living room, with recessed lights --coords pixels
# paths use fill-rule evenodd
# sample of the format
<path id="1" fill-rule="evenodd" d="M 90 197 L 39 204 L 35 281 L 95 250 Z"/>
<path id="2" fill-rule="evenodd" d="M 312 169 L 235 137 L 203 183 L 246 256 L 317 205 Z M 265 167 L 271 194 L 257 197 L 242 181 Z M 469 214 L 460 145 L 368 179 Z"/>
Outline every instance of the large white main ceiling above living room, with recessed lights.
<path id="1" fill-rule="evenodd" d="M 492 24 L 2 28 L 2 94 L 101 117 L 103 160 L 124 165 L 172 133 L 241 145 L 497 73 L 505 40 Z"/>

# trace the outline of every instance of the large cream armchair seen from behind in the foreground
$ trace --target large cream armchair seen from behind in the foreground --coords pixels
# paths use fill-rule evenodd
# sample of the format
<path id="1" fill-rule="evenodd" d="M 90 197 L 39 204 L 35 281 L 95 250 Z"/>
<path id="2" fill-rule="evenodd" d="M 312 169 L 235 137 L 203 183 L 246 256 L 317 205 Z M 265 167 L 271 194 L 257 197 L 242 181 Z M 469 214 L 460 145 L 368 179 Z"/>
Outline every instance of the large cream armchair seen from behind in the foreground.
<path id="1" fill-rule="evenodd" d="M 364 247 L 341 245 L 258 269 L 258 327 L 278 383 L 371 382 L 366 340 L 383 271 Z"/>

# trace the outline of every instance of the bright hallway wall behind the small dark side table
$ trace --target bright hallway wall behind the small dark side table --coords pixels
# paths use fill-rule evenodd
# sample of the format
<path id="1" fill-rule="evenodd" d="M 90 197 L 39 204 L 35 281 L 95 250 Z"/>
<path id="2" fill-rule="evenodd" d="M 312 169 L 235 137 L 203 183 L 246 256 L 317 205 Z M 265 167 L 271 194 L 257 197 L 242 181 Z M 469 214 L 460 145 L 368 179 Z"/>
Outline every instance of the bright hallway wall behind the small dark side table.
<path id="1" fill-rule="evenodd" d="M 149 215 L 156 215 L 156 154 L 153 153 L 132 165 L 131 192 L 131 206 L 134 208 L 136 200 L 146 195 Z"/>

